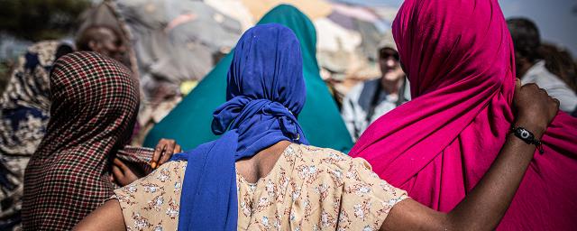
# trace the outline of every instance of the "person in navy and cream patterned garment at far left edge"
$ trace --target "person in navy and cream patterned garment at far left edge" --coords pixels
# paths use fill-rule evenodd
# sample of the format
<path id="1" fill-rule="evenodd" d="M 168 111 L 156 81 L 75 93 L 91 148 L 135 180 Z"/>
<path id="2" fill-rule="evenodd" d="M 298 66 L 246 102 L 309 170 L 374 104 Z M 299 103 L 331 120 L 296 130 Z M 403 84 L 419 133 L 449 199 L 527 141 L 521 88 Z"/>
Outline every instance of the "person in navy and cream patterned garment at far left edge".
<path id="1" fill-rule="evenodd" d="M 20 224 L 24 168 L 46 133 L 49 71 L 72 51 L 67 43 L 38 42 L 20 58 L 0 98 L 0 229 Z"/>

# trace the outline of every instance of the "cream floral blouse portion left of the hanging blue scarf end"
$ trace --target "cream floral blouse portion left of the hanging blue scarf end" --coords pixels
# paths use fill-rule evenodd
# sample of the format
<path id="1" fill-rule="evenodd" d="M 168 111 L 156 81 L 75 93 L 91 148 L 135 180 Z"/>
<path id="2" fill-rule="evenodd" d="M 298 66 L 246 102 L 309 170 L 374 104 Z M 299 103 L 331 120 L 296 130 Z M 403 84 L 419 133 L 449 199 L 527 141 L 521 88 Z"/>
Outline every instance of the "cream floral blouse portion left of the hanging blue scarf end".
<path id="1" fill-rule="evenodd" d="M 177 230 L 187 162 L 167 162 L 156 171 L 114 190 L 127 230 Z"/>

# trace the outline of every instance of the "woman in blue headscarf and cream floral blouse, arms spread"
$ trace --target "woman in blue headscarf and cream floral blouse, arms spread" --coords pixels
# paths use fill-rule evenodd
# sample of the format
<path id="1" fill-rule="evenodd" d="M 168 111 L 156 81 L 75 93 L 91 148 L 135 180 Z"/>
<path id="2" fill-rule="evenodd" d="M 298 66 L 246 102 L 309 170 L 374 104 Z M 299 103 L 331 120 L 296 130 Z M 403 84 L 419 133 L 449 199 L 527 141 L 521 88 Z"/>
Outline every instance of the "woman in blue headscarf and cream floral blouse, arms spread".
<path id="1" fill-rule="evenodd" d="M 297 116 L 305 101 L 298 40 L 276 23 L 243 34 L 228 73 L 227 102 L 212 127 L 222 136 L 115 198 L 77 230 L 441 230 L 499 223 L 535 152 L 509 135 L 472 193 L 449 214 L 408 199 L 362 159 L 307 145 Z M 558 101 L 535 85 L 518 89 L 517 126 L 539 138 Z M 194 135 L 194 134 L 191 134 Z M 392 210 L 391 210 L 392 208 Z"/>

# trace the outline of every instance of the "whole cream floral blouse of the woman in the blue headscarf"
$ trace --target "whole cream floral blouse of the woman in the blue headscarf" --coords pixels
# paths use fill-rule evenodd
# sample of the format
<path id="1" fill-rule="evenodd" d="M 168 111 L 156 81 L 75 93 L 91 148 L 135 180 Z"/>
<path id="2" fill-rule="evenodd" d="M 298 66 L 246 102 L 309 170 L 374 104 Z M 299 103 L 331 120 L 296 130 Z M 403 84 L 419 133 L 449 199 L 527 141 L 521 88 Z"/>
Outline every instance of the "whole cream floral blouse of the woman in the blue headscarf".
<path id="1" fill-rule="evenodd" d="M 176 230 L 187 162 L 168 162 L 114 190 L 127 230 Z M 404 190 L 371 165 L 332 149 L 290 144 L 270 173 L 249 183 L 236 173 L 238 230 L 378 230 Z"/>

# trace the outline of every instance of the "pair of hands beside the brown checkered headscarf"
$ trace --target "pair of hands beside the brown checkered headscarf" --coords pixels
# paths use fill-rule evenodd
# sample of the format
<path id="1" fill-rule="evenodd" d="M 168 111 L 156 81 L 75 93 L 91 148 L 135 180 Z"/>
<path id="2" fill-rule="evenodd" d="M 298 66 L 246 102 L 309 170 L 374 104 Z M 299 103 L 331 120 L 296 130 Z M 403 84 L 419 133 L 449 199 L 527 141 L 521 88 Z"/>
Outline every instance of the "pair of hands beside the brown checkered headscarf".
<path id="1" fill-rule="evenodd" d="M 160 165 L 170 160 L 172 154 L 182 152 L 180 145 L 176 143 L 175 140 L 160 139 L 159 143 L 156 144 L 154 149 L 154 154 L 151 159 L 151 168 L 156 169 Z M 114 158 L 112 165 L 112 181 L 115 181 L 120 186 L 129 185 L 134 180 L 138 180 L 146 176 L 147 172 L 136 169 L 131 165 L 127 165 L 118 158 Z"/>

